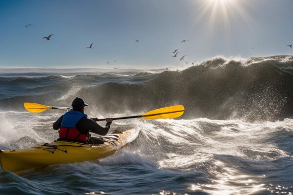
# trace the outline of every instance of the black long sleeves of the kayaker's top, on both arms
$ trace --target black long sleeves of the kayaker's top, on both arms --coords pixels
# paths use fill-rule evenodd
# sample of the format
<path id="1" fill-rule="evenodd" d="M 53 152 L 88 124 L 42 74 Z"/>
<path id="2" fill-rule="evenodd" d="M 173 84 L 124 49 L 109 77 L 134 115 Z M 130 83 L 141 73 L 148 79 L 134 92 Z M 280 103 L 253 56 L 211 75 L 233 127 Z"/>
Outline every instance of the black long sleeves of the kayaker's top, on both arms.
<path id="1" fill-rule="evenodd" d="M 54 130 L 59 130 L 60 129 L 62 119 L 63 119 L 63 115 L 61 117 L 59 117 L 53 123 L 53 129 Z M 94 120 L 84 117 L 84 118 L 80 119 L 76 123 L 76 128 L 77 128 L 77 130 L 79 132 L 81 132 L 82 134 L 85 134 L 85 135 L 87 135 L 88 132 L 92 132 L 92 133 L 95 133 L 95 134 L 105 136 L 108 133 L 109 129 L 110 129 L 110 125 L 111 125 L 111 123 L 107 122 L 105 127 L 101 127 Z"/>

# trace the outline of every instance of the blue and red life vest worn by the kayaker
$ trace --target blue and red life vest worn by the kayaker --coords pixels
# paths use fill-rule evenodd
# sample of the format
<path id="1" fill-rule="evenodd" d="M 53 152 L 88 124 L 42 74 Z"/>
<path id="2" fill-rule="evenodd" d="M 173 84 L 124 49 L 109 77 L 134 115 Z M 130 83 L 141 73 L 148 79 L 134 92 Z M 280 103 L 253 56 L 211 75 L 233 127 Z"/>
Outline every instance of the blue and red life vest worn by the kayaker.
<path id="1" fill-rule="evenodd" d="M 76 128 L 76 123 L 84 117 L 87 117 L 87 115 L 75 110 L 65 113 L 63 115 L 59 130 L 59 139 L 83 142 L 87 141 L 88 136 L 86 134 L 82 134 Z"/>

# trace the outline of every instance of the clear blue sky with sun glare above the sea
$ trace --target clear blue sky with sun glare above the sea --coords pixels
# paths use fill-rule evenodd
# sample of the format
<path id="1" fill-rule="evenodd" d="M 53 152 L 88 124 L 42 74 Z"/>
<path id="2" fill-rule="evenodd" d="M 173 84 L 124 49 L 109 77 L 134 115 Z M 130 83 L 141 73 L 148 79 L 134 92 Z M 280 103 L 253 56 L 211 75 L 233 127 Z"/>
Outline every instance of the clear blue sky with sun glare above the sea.
<path id="1" fill-rule="evenodd" d="M 0 66 L 182 67 L 218 55 L 293 55 L 292 21 L 293 0 L 0 0 Z M 175 49 L 184 61 L 171 58 Z"/>

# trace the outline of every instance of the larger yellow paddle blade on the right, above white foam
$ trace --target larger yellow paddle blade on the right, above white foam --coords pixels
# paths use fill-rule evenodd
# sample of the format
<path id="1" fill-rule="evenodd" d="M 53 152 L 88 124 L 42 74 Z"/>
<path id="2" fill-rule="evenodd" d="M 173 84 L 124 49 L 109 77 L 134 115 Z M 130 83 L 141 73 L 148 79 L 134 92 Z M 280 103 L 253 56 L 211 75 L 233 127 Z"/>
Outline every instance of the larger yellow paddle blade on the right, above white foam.
<path id="1" fill-rule="evenodd" d="M 176 105 L 165 108 L 159 108 L 147 112 L 142 116 L 145 119 L 158 119 L 158 118 L 177 118 L 182 116 L 184 113 L 184 106 Z"/>

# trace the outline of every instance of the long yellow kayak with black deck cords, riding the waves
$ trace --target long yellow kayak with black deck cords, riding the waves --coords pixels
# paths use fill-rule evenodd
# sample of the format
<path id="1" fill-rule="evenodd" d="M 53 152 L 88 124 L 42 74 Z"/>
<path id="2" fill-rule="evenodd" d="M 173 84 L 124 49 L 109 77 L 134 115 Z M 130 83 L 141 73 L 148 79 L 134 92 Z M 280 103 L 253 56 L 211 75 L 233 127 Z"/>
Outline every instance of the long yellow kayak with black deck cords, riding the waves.
<path id="1" fill-rule="evenodd" d="M 131 129 L 122 134 L 109 134 L 102 144 L 89 145 L 74 141 L 54 141 L 23 150 L 0 150 L 0 164 L 4 171 L 18 172 L 52 164 L 95 160 L 114 154 L 138 136 Z"/>

